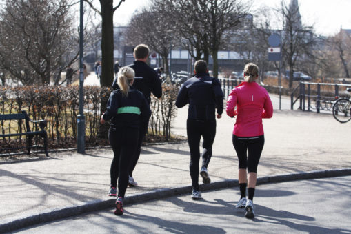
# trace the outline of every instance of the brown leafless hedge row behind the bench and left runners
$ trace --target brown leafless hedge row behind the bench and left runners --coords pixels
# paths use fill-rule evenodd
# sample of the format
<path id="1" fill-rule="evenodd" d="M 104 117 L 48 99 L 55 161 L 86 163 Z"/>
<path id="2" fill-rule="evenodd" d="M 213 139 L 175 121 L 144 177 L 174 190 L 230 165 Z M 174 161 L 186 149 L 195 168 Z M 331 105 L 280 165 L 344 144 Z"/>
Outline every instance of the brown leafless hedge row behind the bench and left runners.
<path id="1" fill-rule="evenodd" d="M 99 130 L 106 130 L 100 124 L 101 103 L 106 103 L 110 92 L 110 88 L 84 86 L 83 111 L 86 117 L 86 146 L 108 144 L 106 137 L 101 139 L 98 136 L 101 136 Z M 163 86 L 162 98 L 152 98 L 150 104 L 152 117 L 149 124 L 151 137 L 162 138 L 166 141 L 170 139 L 170 126 L 175 115 L 174 101 L 177 98 L 177 92 L 178 89 L 175 86 Z M 78 86 L 6 86 L 0 88 L 0 114 L 20 113 L 21 110 L 26 110 L 30 118 L 34 120 L 46 119 L 48 121 L 46 130 L 50 148 L 77 146 Z M 0 129 L 1 133 L 18 133 L 19 131 L 18 124 L 12 121 L 1 121 Z M 21 139 L 12 138 L 8 142 L 18 144 Z"/>

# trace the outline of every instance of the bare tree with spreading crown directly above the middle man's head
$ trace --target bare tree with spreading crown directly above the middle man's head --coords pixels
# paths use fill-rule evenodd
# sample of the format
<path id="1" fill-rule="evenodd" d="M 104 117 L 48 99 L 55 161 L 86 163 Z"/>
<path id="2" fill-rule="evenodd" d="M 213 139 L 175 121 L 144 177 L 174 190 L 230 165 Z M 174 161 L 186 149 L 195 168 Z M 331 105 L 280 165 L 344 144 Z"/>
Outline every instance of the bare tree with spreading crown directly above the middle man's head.
<path id="1" fill-rule="evenodd" d="M 226 32 L 234 30 L 248 14 L 248 5 L 237 0 L 164 0 L 173 28 L 186 41 L 192 54 L 197 50 L 197 59 L 205 60 L 212 55 L 213 74 L 218 76 L 217 53 L 223 46 Z"/>

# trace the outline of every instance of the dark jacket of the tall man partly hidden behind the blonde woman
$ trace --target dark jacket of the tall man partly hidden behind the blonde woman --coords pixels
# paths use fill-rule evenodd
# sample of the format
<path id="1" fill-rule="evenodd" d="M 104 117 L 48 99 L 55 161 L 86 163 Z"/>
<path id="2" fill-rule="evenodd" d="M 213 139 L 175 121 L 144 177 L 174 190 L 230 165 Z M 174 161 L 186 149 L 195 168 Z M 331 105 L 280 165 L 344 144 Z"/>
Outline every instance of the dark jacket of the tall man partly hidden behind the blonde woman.
<path id="1" fill-rule="evenodd" d="M 133 87 L 143 93 L 149 104 L 151 101 L 151 92 L 157 98 L 162 96 L 161 81 L 154 69 L 150 68 L 145 62 L 139 60 L 134 61 L 133 64 L 129 66 L 133 68 L 135 72 Z M 119 88 L 117 77 L 113 81 L 112 88 Z"/>

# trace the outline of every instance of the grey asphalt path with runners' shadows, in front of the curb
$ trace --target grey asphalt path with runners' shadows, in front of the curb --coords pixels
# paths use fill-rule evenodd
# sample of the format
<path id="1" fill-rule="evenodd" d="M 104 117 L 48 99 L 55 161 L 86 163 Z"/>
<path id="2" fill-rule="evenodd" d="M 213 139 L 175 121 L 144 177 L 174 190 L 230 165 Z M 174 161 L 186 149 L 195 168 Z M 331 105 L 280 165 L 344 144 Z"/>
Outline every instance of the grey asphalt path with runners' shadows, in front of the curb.
<path id="1" fill-rule="evenodd" d="M 351 176 L 257 186 L 256 217 L 235 208 L 239 189 L 168 197 L 86 213 L 14 233 L 351 233 Z"/>

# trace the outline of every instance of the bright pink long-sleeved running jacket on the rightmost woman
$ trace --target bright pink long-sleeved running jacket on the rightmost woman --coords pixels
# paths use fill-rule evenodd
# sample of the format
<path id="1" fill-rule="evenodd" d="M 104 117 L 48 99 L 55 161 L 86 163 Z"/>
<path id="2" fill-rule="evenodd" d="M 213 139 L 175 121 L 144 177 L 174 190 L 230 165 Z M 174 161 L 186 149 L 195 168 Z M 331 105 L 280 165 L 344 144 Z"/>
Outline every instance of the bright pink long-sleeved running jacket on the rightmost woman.
<path id="1" fill-rule="evenodd" d="M 234 110 L 237 106 L 237 110 Z M 262 118 L 273 115 L 273 106 L 265 88 L 256 82 L 242 82 L 230 92 L 227 100 L 227 115 L 234 117 L 233 134 L 237 137 L 256 137 L 263 135 Z"/>

